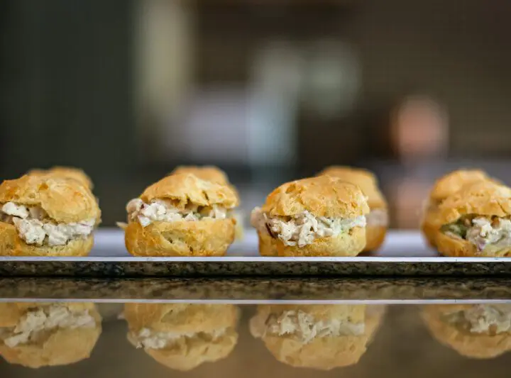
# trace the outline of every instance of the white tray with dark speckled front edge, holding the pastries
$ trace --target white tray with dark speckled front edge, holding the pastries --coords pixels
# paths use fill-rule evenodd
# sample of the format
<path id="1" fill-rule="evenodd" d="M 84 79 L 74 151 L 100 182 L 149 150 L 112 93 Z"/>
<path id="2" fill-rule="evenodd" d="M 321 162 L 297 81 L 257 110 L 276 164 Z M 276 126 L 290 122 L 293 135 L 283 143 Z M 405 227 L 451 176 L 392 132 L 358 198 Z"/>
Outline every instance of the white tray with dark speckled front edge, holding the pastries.
<path id="1" fill-rule="evenodd" d="M 419 233 L 391 232 L 358 257 L 258 257 L 253 231 L 226 257 L 130 257 L 120 230 L 99 230 L 89 257 L 0 257 L 0 276 L 470 276 L 511 275 L 510 258 L 439 257 Z"/>

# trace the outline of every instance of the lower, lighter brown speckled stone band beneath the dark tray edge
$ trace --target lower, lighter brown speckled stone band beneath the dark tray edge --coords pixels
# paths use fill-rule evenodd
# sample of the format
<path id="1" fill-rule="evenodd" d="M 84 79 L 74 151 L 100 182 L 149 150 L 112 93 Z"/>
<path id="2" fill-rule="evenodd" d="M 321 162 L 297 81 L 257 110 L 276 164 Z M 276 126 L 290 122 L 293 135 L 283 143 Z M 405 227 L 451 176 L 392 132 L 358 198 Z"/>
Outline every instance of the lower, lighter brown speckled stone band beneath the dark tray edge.
<path id="1" fill-rule="evenodd" d="M 510 300 L 511 279 L 0 279 L 0 299 L 116 301 Z"/>

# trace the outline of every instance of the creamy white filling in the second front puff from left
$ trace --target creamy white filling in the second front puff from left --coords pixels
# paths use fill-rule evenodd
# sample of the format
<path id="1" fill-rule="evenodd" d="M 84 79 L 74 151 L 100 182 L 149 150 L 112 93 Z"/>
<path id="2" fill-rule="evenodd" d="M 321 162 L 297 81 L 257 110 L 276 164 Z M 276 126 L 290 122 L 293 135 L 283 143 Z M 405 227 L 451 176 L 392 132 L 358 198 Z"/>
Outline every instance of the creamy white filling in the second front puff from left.
<path id="1" fill-rule="evenodd" d="M 126 205 L 128 218 L 131 221 L 137 220 L 141 226 L 149 226 L 155 221 L 201 221 L 202 219 L 225 219 L 227 209 L 222 206 L 212 205 L 211 207 L 191 206 L 189 209 L 177 209 L 171 201 L 155 199 L 146 204 L 141 199 L 132 199 Z"/>

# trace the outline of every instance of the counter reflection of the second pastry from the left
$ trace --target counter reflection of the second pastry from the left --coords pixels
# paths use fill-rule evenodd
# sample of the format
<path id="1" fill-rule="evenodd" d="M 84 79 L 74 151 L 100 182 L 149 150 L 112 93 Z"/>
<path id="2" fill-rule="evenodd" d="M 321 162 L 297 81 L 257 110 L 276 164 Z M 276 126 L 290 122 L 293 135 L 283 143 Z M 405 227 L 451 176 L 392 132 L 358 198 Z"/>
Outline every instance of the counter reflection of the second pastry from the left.
<path id="1" fill-rule="evenodd" d="M 126 304 L 128 340 L 161 364 L 190 370 L 227 357 L 238 342 L 231 304 Z"/>

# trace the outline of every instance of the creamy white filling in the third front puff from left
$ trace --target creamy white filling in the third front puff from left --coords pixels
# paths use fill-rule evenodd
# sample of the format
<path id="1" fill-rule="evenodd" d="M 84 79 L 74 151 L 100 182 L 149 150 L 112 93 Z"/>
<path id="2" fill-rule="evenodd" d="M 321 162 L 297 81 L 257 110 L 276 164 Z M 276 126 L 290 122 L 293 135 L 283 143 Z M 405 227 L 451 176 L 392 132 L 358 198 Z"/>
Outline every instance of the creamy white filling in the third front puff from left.
<path id="1" fill-rule="evenodd" d="M 285 245 L 297 245 L 302 248 L 314 242 L 316 238 L 336 236 L 353 227 L 365 227 L 366 217 L 326 218 L 304 211 L 290 217 L 288 221 L 282 217 L 270 217 L 256 207 L 251 214 L 251 224 L 259 232 L 279 238 Z"/>

